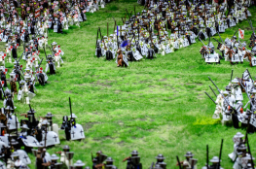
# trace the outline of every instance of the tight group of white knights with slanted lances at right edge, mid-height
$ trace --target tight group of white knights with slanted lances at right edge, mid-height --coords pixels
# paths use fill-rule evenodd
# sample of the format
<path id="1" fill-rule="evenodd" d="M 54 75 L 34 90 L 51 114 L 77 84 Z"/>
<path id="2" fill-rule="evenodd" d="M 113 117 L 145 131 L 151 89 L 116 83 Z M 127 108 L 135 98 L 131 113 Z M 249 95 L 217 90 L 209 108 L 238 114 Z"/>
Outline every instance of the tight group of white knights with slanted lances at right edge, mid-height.
<path id="1" fill-rule="evenodd" d="M 216 104 L 212 118 L 221 118 L 223 124 L 233 123 L 235 128 L 247 127 L 250 134 L 256 132 L 256 81 L 253 80 L 248 69 L 243 72 L 241 78 L 235 79 L 233 79 L 232 70 L 231 81 L 224 91 L 220 90 L 210 78 L 209 80 L 215 85 L 219 93 L 217 95 L 210 85 L 209 87 L 216 96 L 216 100 L 205 92 L 213 103 Z M 245 99 L 242 93 L 245 93 L 245 97 L 248 98 L 247 102 L 243 101 Z"/>

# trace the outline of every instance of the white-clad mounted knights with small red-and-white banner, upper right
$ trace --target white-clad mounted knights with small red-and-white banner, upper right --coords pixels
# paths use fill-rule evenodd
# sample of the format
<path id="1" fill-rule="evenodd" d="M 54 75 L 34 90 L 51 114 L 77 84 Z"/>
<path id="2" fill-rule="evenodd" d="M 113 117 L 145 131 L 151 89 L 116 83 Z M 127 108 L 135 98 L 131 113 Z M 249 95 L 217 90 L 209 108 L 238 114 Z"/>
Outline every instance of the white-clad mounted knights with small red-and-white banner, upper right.
<path id="1" fill-rule="evenodd" d="M 225 61 L 230 61 L 231 64 L 238 64 L 243 63 L 243 61 L 249 62 L 249 65 L 251 67 L 256 65 L 256 46 L 255 46 L 255 38 L 256 34 L 254 33 L 254 29 L 252 26 L 251 21 L 249 21 L 250 27 L 253 31 L 251 37 L 250 37 L 250 44 L 249 48 L 251 50 L 248 50 L 246 48 L 246 42 L 240 42 L 240 39 L 244 39 L 244 31 L 243 30 L 237 30 L 233 37 L 231 39 L 226 38 L 225 42 L 223 42 L 221 36 L 220 40 L 217 40 L 213 38 L 218 43 L 217 50 L 220 51 L 221 55 L 218 54 L 216 51 L 214 51 L 215 47 L 210 42 L 209 37 L 209 43 L 207 46 L 203 44 L 201 47 L 201 58 L 204 59 L 206 63 L 220 63 L 220 59 L 225 59 Z M 238 32 L 238 38 L 236 36 Z M 218 32 L 219 34 L 219 32 Z"/>

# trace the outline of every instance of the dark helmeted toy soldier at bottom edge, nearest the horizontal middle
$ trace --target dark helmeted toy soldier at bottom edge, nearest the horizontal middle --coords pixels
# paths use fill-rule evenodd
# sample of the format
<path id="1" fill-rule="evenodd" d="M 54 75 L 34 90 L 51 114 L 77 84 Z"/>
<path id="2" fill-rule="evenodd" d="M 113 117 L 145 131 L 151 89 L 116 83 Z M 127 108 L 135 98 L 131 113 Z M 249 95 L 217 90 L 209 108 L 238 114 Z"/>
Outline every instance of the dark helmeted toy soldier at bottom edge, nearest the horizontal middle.
<path id="1" fill-rule="evenodd" d="M 128 161 L 127 169 L 142 169 L 142 164 L 139 162 L 140 157 L 138 156 L 137 151 L 132 151 L 131 156 L 126 157 L 123 159 L 123 162 Z"/>

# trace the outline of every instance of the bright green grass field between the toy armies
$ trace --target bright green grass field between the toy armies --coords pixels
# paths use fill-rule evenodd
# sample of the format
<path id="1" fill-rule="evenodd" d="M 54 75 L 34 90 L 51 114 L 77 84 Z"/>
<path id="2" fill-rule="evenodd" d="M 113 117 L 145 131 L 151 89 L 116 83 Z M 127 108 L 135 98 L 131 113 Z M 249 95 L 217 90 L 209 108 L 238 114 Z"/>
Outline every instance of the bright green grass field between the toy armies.
<path id="1" fill-rule="evenodd" d="M 96 58 L 97 28 L 106 35 L 109 22 L 109 32 L 113 32 L 112 16 L 120 25 L 121 17 L 126 16 L 125 9 L 131 11 L 134 5 L 136 12 L 143 10 L 135 0 L 114 1 L 94 14 L 87 13 L 88 21 L 82 22 L 80 28 L 73 26 L 64 34 L 50 30 L 49 44 L 55 41 L 60 45 L 65 52 L 64 64 L 57 68 L 55 76 L 49 76 L 47 85 L 36 85 L 38 92 L 31 106 L 37 111 L 36 117 L 52 112 L 55 123 L 60 126 L 62 117 L 70 114 L 68 97 L 71 97 L 73 113 L 78 117 L 77 122 L 85 127 L 86 139 L 67 142 L 64 132 L 59 131 L 61 145 L 48 152 L 52 154 L 69 145 L 75 152 L 74 162 L 81 159 L 91 166 L 90 152 L 101 150 L 114 158 L 118 168 L 124 169 L 126 163 L 122 160 L 133 150 L 140 153 L 143 168 L 149 168 L 158 153 L 165 155 L 167 168 L 177 168 L 176 155 L 183 160 L 183 155 L 191 151 L 199 159 L 201 168 L 206 161 L 206 145 L 211 158 L 219 154 L 223 138 L 221 165 L 232 168 L 233 162 L 228 157 L 233 152 L 232 138 L 238 131 L 245 134 L 245 130 L 222 126 L 220 120 L 212 119 L 215 105 L 203 91 L 211 93 L 208 76 L 224 89 L 232 69 L 235 78 L 241 77 L 246 68 L 255 77 L 255 68 L 249 67 L 248 62 L 232 66 L 224 60 L 218 65 L 206 65 L 199 52 L 200 41 L 165 56 L 158 55 L 154 60 L 131 62 L 128 68 L 118 68 L 114 60 Z M 250 12 L 254 16 L 256 8 L 251 7 Z M 256 27 L 256 17 L 250 19 Z M 248 40 L 252 31 L 246 20 L 226 30 L 221 34 L 222 39 L 231 38 L 238 28 L 245 30 Z M 219 39 L 218 35 L 215 37 Z M 217 47 L 215 42 L 214 45 Z M 45 57 L 44 52 L 40 56 Z M 8 73 L 12 66 L 7 64 Z M 45 69 L 45 61 L 43 67 Z M 18 114 L 29 110 L 28 105 L 18 102 L 17 96 L 15 105 Z M 256 156 L 256 135 L 249 135 L 249 141 Z M 29 156 L 34 161 L 31 153 Z M 34 168 L 34 163 L 29 167 Z"/>

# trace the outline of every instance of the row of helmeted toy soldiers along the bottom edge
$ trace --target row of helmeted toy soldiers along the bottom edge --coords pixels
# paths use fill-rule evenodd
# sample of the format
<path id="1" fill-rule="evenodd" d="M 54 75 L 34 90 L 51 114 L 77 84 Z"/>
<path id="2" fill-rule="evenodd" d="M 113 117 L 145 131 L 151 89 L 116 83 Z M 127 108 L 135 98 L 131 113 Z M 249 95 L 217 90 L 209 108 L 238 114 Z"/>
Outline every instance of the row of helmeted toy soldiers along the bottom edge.
<path id="1" fill-rule="evenodd" d="M 249 146 L 248 136 L 246 134 L 245 139 L 243 134 L 238 132 L 234 138 L 234 152 L 229 154 L 229 157 L 235 161 L 233 168 L 234 169 L 254 169 L 254 157 L 251 154 L 251 149 Z M 221 156 L 222 156 L 222 147 L 223 147 L 223 139 L 221 142 L 220 152 L 218 156 L 213 156 L 210 160 L 208 159 L 208 145 L 206 146 L 206 164 L 202 167 L 202 169 L 223 169 L 221 167 Z M 39 152 L 36 151 L 36 152 Z M 38 153 L 34 154 L 38 154 Z M 57 169 L 61 167 L 72 168 L 72 169 L 82 169 L 86 166 L 82 160 L 77 160 L 73 163 L 74 152 L 71 152 L 70 147 L 65 145 L 60 152 L 55 152 L 60 156 L 60 162 L 58 162 L 59 157 L 54 153 L 52 156 L 49 152 L 46 152 L 46 149 L 43 149 L 41 152 L 44 152 L 43 159 L 44 162 L 41 165 L 38 165 L 38 157 L 36 160 L 37 168 L 43 168 L 51 166 L 51 169 Z M 198 159 L 194 157 L 195 155 L 192 152 L 186 152 L 184 154 L 184 160 L 180 161 L 179 157 L 177 157 L 176 166 L 179 166 L 180 169 L 197 169 Z M 156 157 L 156 161 L 152 162 L 150 165 L 150 169 L 166 169 L 168 168 L 165 163 L 165 156 L 160 153 Z M 114 164 L 114 159 L 102 151 L 96 152 L 96 156 L 94 157 L 91 152 L 91 161 L 92 161 L 92 169 L 117 169 L 117 166 Z M 127 169 L 142 169 L 142 163 L 140 161 L 140 156 L 137 151 L 130 152 L 130 155 L 123 159 L 123 162 L 127 161 Z M 211 164 L 210 164 L 210 163 Z M 86 166 L 85 169 L 90 169 L 89 166 Z"/>

